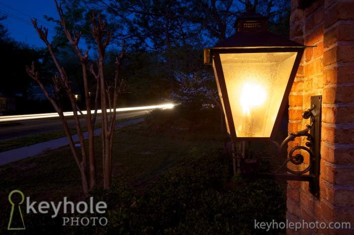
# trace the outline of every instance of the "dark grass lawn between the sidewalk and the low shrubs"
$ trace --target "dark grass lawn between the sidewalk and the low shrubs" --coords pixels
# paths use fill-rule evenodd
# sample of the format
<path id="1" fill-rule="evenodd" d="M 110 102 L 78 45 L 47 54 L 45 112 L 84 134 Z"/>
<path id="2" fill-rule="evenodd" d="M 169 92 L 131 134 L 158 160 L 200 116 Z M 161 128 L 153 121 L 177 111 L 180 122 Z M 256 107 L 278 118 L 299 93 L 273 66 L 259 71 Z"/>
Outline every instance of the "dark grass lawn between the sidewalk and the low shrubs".
<path id="1" fill-rule="evenodd" d="M 207 152 L 223 146 L 217 133 L 152 133 L 146 123 L 115 132 L 112 180 L 122 177 L 137 188 L 191 151 Z M 217 127 L 216 127 L 217 129 Z M 212 130 L 215 130 L 213 128 Z M 210 130 L 209 130 L 210 131 Z M 96 137 L 97 180 L 102 185 L 101 137 Z M 0 206 L 9 208 L 9 193 L 18 189 L 33 200 L 82 199 L 79 169 L 68 146 L 0 166 Z"/>

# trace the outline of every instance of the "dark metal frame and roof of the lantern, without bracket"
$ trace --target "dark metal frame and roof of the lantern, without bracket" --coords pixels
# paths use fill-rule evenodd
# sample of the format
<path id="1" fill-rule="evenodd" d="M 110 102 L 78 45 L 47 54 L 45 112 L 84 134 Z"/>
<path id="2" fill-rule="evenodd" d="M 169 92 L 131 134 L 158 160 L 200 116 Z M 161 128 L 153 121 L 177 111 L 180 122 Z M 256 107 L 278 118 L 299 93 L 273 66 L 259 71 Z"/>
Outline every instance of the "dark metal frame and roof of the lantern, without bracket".
<path id="1" fill-rule="evenodd" d="M 294 82 L 297 69 L 301 62 L 304 49 L 307 47 L 300 43 L 283 38 L 274 33 L 267 32 L 268 17 L 256 13 L 245 13 L 237 18 L 237 33 L 215 46 L 204 49 L 204 64 L 214 65 L 215 78 L 218 84 L 220 98 L 228 120 L 229 132 L 233 141 L 271 141 L 274 140 L 277 128 L 280 124 L 282 114 L 287 105 L 288 96 Z M 285 92 L 280 103 L 277 118 L 270 137 L 238 137 L 234 126 L 234 119 L 231 111 L 229 93 L 223 72 L 220 54 L 239 53 L 276 53 L 296 52 L 296 58 L 290 72 Z"/>

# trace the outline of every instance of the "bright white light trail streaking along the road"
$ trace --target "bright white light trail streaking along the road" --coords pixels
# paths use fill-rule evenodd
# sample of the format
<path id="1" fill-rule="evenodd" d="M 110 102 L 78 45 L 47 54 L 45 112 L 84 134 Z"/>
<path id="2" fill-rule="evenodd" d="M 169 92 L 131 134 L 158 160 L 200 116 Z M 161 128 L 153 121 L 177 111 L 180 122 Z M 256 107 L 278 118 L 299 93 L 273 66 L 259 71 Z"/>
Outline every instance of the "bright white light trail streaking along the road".
<path id="1" fill-rule="evenodd" d="M 142 106 L 142 107 L 128 107 L 128 108 L 116 108 L 117 112 L 123 111 L 135 111 L 135 110 L 152 110 L 156 108 L 161 109 L 169 109 L 173 108 L 175 104 L 167 103 L 160 105 L 150 105 L 150 106 Z M 114 109 L 107 109 L 107 112 L 111 112 Z M 91 113 L 94 113 L 95 110 L 91 110 Z M 83 114 L 87 114 L 87 111 L 82 111 Z M 102 113 L 102 110 L 97 110 L 97 113 Z M 73 116 L 73 112 L 64 112 L 64 116 Z M 80 115 L 80 114 L 79 114 Z M 12 115 L 12 116 L 0 116 L 0 122 L 10 122 L 10 121 L 24 121 L 24 120 L 32 120 L 32 119 L 46 119 L 46 118 L 59 118 L 59 114 L 57 112 L 51 113 L 38 113 L 38 114 L 25 114 L 25 115 Z"/>

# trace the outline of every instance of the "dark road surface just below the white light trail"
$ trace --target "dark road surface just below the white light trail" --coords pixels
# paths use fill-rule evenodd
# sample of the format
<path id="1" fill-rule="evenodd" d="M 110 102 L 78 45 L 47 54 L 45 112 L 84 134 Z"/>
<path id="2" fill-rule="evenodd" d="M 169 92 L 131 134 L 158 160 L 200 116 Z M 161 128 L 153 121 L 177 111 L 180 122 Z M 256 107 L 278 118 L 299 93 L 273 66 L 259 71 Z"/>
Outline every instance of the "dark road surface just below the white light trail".
<path id="1" fill-rule="evenodd" d="M 148 110 L 117 112 L 117 120 L 133 118 L 134 116 L 140 116 L 147 112 Z M 81 123 L 85 125 L 85 121 L 83 118 L 81 119 Z M 99 116 L 98 116 L 97 123 L 101 123 L 101 119 Z M 73 118 L 68 118 L 68 125 L 70 128 L 75 127 Z M 63 127 L 59 118 L 16 121 L 16 123 L 0 125 L 0 140 L 39 134 L 43 132 L 62 130 L 62 129 Z"/>

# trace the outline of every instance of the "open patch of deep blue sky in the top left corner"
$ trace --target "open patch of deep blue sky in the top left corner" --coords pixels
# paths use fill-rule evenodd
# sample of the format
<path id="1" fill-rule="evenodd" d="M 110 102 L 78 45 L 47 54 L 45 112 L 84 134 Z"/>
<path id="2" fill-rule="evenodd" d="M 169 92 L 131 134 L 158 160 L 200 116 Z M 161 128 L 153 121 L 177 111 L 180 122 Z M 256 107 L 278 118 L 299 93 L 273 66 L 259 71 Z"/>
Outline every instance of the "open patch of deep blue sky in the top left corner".
<path id="1" fill-rule="evenodd" d="M 49 29 L 49 39 L 54 34 L 54 23 L 48 22 L 43 15 L 58 19 L 54 0 L 0 0 L 0 13 L 7 19 L 1 21 L 8 29 L 10 37 L 28 45 L 44 47 L 30 19 L 36 18 L 38 25 Z"/>

